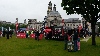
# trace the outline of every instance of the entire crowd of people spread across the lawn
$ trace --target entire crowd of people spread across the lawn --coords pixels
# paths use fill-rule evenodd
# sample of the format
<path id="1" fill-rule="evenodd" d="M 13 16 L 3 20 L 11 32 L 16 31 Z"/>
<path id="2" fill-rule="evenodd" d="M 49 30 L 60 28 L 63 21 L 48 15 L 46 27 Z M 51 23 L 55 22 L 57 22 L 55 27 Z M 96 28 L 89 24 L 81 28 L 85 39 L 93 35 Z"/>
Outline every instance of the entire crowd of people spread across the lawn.
<path id="1" fill-rule="evenodd" d="M 20 31 L 17 31 L 16 34 L 17 33 L 25 33 L 26 34 L 26 38 L 29 38 L 30 34 L 35 34 L 35 40 L 38 40 L 38 41 L 39 41 L 39 36 L 41 34 L 41 32 L 39 30 L 20 30 Z M 9 30 L 9 29 L 6 29 L 6 30 L 3 30 L 3 32 L 0 32 L 0 34 L 2 34 L 3 37 L 7 37 L 7 39 L 9 39 L 9 37 L 12 38 L 13 31 Z M 56 37 L 58 37 L 59 35 L 60 35 L 60 33 L 56 34 Z M 72 38 L 73 39 L 73 44 L 74 44 L 74 51 L 78 51 L 77 42 L 80 41 L 79 37 L 86 37 L 86 35 L 89 36 L 91 34 L 88 33 L 88 31 L 84 31 L 83 29 L 80 32 L 79 32 L 79 29 L 71 29 L 71 30 L 65 31 L 64 32 L 64 41 L 65 41 L 64 49 L 65 50 L 68 49 L 68 41 L 70 41 L 70 38 Z M 47 32 L 46 36 L 50 37 L 52 35 L 50 35 Z"/>

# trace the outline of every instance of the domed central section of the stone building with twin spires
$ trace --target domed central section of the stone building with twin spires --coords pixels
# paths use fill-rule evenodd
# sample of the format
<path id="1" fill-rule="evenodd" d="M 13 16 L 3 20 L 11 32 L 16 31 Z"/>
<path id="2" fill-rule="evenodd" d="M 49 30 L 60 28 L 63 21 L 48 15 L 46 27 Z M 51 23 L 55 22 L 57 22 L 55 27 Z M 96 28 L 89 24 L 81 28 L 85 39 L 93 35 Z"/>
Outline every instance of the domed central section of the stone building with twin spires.
<path id="1" fill-rule="evenodd" d="M 53 26 L 53 25 L 62 25 L 62 17 L 60 13 L 56 10 L 56 5 L 54 4 L 54 7 L 52 7 L 51 1 L 48 4 L 48 10 L 47 10 L 47 16 L 45 26 Z"/>

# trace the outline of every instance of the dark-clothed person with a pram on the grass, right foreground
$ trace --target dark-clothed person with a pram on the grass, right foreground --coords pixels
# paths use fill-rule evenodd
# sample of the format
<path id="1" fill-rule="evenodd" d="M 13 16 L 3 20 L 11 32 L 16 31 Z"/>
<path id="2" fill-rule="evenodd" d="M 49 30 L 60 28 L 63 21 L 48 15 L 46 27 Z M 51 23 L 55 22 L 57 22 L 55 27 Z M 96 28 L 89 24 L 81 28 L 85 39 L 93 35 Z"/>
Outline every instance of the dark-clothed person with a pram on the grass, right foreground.
<path id="1" fill-rule="evenodd" d="M 77 40 L 78 40 L 78 30 L 77 29 L 72 29 L 70 30 L 70 33 L 68 33 L 68 51 L 77 51 L 78 50 L 78 45 L 77 45 Z"/>

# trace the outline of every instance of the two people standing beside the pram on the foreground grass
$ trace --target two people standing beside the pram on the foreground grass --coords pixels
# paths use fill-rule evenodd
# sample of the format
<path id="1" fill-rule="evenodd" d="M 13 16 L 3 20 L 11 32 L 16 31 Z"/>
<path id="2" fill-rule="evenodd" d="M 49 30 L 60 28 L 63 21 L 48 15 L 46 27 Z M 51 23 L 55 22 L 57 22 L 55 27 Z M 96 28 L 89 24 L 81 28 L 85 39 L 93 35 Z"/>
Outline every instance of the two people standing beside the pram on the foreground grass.
<path id="1" fill-rule="evenodd" d="M 72 29 L 72 30 L 66 31 L 64 33 L 64 41 L 65 41 L 64 49 L 65 50 L 67 49 L 68 41 L 73 41 L 74 51 L 77 51 L 78 50 L 78 45 L 77 45 L 78 37 L 79 37 L 78 29 Z"/>

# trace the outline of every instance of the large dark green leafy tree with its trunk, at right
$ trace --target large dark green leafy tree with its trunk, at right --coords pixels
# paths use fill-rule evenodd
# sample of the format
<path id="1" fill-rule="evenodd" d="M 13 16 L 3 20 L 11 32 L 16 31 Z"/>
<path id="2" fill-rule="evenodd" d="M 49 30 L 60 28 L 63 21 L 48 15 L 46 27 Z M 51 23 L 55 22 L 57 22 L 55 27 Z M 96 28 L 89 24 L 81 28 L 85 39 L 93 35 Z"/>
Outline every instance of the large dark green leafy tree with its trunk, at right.
<path id="1" fill-rule="evenodd" d="M 61 6 L 66 13 L 81 14 L 86 21 L 91 23 L 92 45 L 95 41 L 95 24 L 100 19 L 100 1 L 99 0 L 62 0 Z"/>

